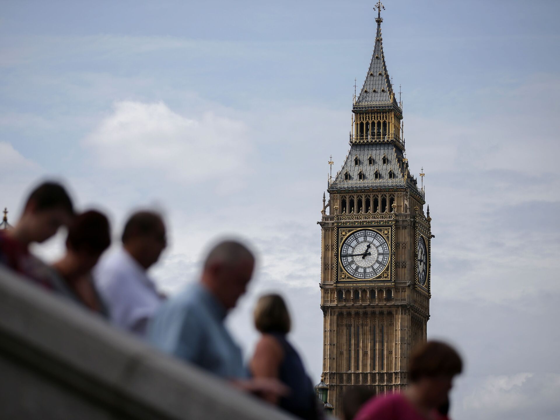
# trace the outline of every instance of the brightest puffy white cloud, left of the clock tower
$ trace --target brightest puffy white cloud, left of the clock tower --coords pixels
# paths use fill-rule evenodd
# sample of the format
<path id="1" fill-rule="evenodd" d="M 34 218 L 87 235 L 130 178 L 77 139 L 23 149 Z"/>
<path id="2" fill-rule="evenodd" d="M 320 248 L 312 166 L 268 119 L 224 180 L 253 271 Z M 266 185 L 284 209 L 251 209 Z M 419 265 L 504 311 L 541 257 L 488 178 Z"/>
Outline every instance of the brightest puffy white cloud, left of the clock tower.
<path id="1" fill-rule="evenodd" d="M 155 172 L 183 184 L 228 184 L 248 172 L 251 147 L 239 120 L 205 113 L 188 118 L 164 102 L 115 102 L 113 112 L 85 138 L 99 165 Z"/>

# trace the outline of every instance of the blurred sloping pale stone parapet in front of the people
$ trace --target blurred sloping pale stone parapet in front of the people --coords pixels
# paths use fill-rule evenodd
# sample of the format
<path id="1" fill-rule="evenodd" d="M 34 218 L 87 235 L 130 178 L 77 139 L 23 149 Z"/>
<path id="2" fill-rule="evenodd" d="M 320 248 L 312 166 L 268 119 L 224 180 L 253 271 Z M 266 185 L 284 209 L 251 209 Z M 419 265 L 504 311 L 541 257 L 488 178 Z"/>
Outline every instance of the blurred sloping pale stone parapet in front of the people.
<path id="1" fill-rule="evenodd" d="M 292 417 L 0 267 L 0 418 Z"/>

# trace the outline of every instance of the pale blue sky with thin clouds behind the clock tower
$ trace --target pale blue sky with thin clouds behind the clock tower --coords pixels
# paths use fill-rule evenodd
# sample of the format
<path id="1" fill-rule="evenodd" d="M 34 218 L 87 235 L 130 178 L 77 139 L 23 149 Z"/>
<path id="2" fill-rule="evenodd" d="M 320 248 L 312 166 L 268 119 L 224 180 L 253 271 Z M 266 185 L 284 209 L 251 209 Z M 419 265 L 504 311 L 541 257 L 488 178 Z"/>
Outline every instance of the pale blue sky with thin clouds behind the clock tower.
<path id="1" fill-rule="evenodd" d="M 111 220 L 165 214 L 151 271 L 174 293 L 220 237 L 258 255 L 228 326 L 249 358 L 256 298 L 279 291 L 319 381 L 321 199 L 348 151 L 370 1 L 2 1 L 0 207 L 39 180 Z M 560 29 L 556 1 L 387 0 L 410 169 L 426 174 L 428 338 L 460 349 L 454 419 L 560 413 Z M 64 234 L 35 248 L 57 258 Z"/>

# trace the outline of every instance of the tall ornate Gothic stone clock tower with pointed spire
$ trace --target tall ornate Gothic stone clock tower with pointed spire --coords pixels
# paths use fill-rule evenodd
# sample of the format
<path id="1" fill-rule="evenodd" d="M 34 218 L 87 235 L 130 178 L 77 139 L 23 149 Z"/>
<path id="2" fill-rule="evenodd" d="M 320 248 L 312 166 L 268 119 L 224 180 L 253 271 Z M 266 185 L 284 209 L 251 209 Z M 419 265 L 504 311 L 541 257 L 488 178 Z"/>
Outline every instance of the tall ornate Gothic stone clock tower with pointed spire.
<path id="1" fill-rule="evenodd" d="M 323 377 L 336 415 L 350 386 L 381 393 L 407 384 L 410 350 L 426 340 L 430 318 L 430 208 L 424 214 L 424 189 L 405 155 L 381 8 L 378 2 L 374 52 L 354 97 L 350 149 L 329 179 L 318 222 Z"/>

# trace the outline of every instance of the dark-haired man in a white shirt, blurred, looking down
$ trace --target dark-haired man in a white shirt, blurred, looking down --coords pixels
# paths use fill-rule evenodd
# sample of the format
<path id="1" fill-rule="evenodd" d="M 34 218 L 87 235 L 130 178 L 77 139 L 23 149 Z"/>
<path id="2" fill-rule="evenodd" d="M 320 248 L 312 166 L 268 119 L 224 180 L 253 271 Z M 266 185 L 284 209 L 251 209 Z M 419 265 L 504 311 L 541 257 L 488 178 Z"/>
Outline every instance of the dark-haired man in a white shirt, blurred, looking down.
<path id="1" fill-rule="evenodd" d="M 94 281 L 111 323 L 143 337 L 148 321 L 164 301 L 146 273 L 167 245 L 161 216 L 150 211 L 134 213 L 124 226 L 122 241 L 123 248 L 101 259 Z"/>

